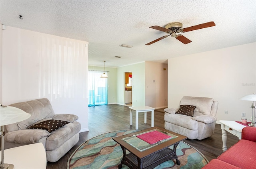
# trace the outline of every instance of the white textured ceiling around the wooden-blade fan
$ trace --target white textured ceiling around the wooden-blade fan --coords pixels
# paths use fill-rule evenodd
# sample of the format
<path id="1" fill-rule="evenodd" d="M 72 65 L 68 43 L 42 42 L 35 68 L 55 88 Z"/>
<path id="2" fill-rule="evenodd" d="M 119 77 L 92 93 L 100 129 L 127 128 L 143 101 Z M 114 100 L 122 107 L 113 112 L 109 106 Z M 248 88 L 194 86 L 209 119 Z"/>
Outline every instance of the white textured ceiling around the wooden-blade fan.
<path id="1" fill-rule="evenodd" d="M 19 15 L 22 15 L 20 20 Z M 0 0 L 6 26 L 89 42 L 89 65 L 120 67 L 256 42 L 255 0 Z M 216 26 L 182 33 L 184 45 L 149 28 L 181 22 L 183 28 L 214 21 Z M 120 47 L 121 44 L 132 48 Z M 121 56 L 116 58 L 115 56 Z"/>

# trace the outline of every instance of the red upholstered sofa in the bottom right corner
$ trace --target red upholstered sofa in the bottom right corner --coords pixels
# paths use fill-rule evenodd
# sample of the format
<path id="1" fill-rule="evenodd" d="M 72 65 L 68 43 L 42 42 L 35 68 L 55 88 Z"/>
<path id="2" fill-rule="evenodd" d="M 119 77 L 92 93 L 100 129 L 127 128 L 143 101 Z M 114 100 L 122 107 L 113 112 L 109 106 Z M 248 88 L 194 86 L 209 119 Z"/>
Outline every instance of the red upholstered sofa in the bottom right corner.
<path id="1" fill-rule="evenodd" d="M 256 128 L 243 128 L 242 140 L 202 169 L 256 169 Z"/>

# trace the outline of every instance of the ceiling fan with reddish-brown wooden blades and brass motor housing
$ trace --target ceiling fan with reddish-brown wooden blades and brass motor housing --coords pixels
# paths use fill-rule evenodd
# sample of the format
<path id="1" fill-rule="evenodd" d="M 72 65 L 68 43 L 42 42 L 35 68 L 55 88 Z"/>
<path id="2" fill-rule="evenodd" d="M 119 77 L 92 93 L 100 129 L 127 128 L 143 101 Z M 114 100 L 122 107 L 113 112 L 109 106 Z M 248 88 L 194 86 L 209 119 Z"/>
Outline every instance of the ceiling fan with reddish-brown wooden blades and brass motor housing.
<path id="1" fill-rule="evenodd" d="M 165 28 L 160 27 L 160 26 L 150 26 L 149 28 L 156 29 L 156 30 L 159 30 L 159 31 L 164 31 L 164 32 L 170 34 L 172 37 L 175 37 L 176 39 L 178 39 L 182 43 L 187 44 L 187 43 L 190 43 L 192 41 L 190 41 L 185 36 L 180 35 L 180 34 L 177 35 L 176 33 L 180 33 L 180 32 L 184 33 L 184 32 L 188 32 L 188 31 L 194 31 L 194 30 L 197 30 L 197 29 L 208 28 L 208 27 L 211 27 L 211 26 L 215 26 L 214 22 L 207 22 L 207 23 L 204 23 L 204 24 L 199 24 L 199 25 L 188 27 L 188 28 L 182 28 L 182 23 L 174 22 L 174 23 L 170 23 L 170 24 L 166 25 Z M 164 38 L 166 38 L 170 35 L 165 35 L 163 37 L 160 37 L 160 38 L 158 38 L 158 39 L 156 39 L 156 40 L 154 40 L 150 43 L 147 43 L 146 45 L 151 45 L 152 43 L 160 41 L 161 39 L 164 39 Z"/>

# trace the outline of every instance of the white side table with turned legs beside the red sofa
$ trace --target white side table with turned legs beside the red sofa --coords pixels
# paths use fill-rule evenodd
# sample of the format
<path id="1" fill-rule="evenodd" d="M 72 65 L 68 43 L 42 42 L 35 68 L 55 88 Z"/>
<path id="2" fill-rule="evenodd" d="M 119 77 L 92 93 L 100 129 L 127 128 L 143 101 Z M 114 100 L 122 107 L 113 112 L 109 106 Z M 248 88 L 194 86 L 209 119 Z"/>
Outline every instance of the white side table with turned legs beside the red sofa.
<path id="1" fill-rule="evenodd" d="M 242 129 L 246 126 L 239 124 L 235 121 L 227 121 L 227 120 L 220 120 L 220 128 L 222 129 L 222 150 L 223 152 L 227 150 L 227 140 L 228 140 L 228 133 L 231 133 L 237 136 L 240 140 L 242 138 Z"/>

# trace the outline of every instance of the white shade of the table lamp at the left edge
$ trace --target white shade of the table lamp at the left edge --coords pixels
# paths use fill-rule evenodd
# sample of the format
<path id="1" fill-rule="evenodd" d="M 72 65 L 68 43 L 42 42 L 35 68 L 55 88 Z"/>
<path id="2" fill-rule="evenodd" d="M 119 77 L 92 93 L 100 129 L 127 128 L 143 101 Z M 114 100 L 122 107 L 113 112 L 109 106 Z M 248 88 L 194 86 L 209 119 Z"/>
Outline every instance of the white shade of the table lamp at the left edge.
<path id="1" fill-rule="evenodd" d="M 2 107 L 0 108 L 0 126 L 21 122 L 30 118 L 30 116 L 29 113 L 16 107 Z"/>

